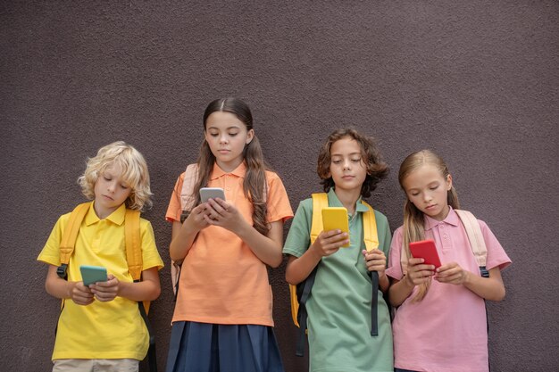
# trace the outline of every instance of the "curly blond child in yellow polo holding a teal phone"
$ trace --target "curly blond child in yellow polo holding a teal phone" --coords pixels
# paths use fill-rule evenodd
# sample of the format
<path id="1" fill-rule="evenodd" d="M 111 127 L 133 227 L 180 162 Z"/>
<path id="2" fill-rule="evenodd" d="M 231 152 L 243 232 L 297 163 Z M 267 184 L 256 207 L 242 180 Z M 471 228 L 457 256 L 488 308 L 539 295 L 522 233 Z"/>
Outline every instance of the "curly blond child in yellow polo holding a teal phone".
<path id="1" fill-rule="evenodd" d="M 58 277 L 60 243 L 70 213 L 54 225 L 38 260 L 48 263 L 46 292 L 63 299 L 54 343 L 53 371 L 138 371 L 146 357 L 149 336 L 138 301 L 160 293 L 157 252 L 149 221 L 140 219 L 142 281 L 133 283 L 125 252 L 126 208 L 141 211 L 151 204 L 146 161 L 134 147 L 115 142 L 88 160 L 79 185 L 94 199 L 79 227 L 68 265 L 68 280 Z M 80 265 L 102 266 L 108 280 L 83 285 Z"/>

